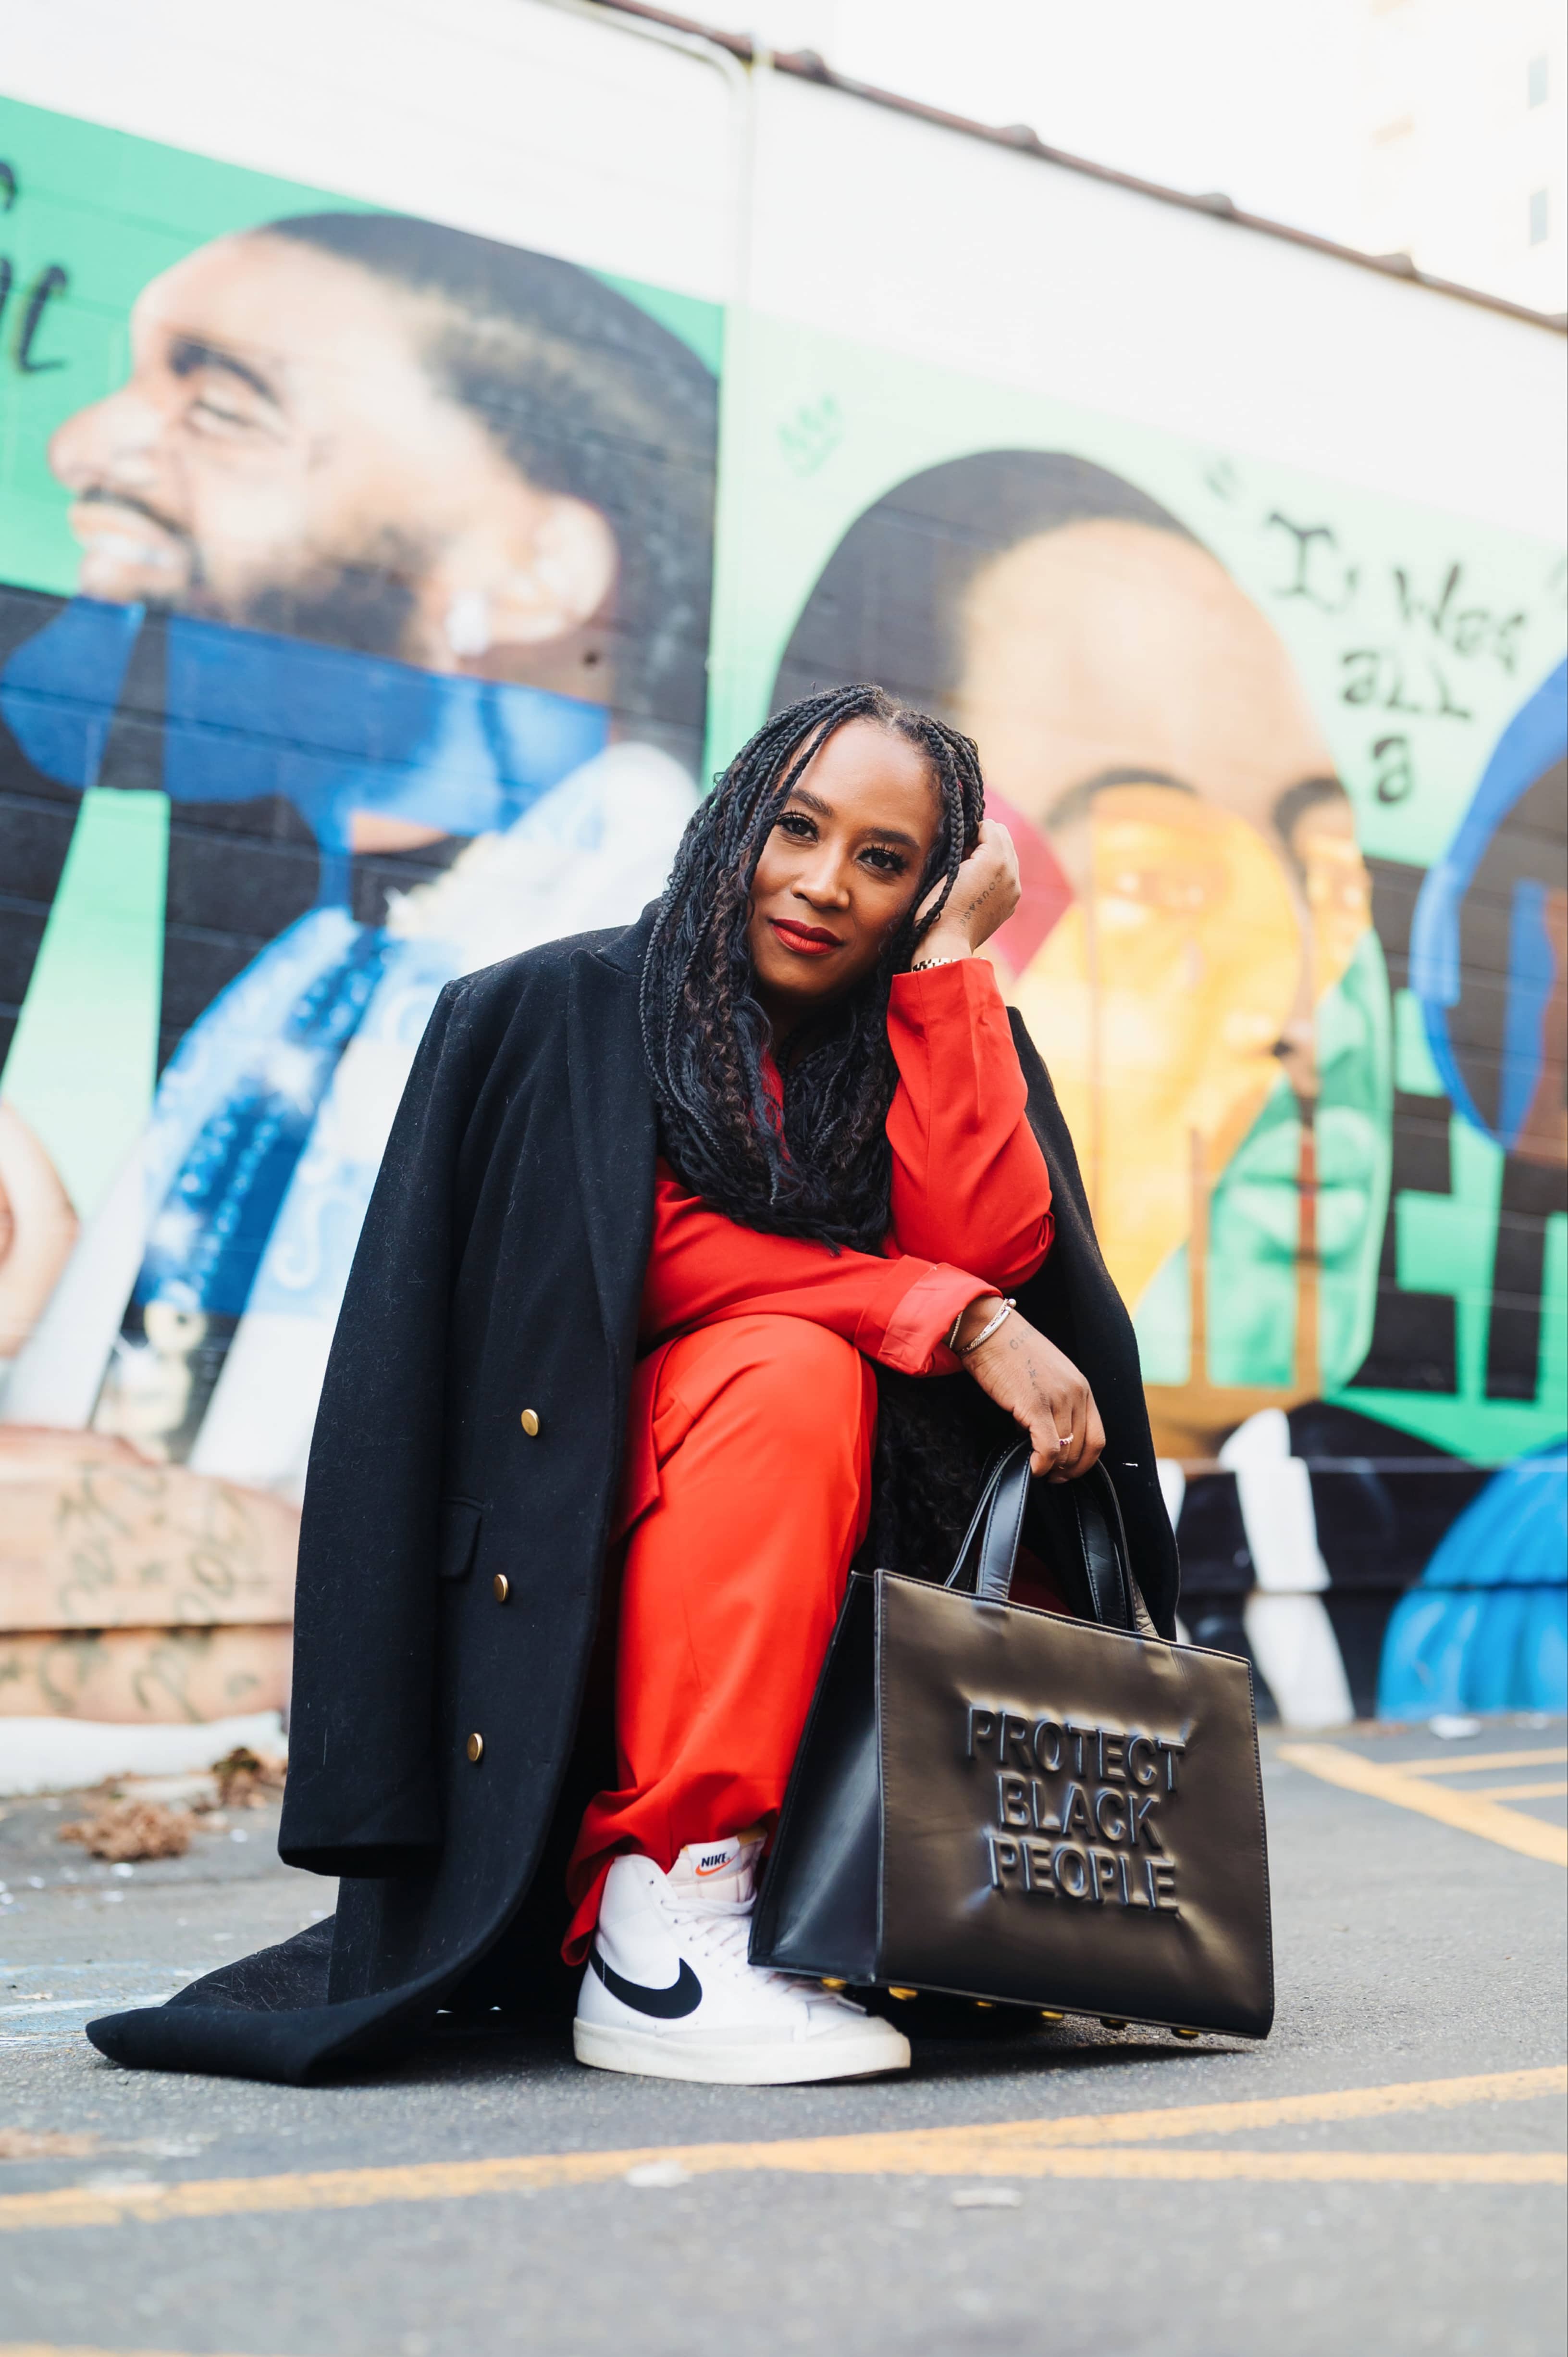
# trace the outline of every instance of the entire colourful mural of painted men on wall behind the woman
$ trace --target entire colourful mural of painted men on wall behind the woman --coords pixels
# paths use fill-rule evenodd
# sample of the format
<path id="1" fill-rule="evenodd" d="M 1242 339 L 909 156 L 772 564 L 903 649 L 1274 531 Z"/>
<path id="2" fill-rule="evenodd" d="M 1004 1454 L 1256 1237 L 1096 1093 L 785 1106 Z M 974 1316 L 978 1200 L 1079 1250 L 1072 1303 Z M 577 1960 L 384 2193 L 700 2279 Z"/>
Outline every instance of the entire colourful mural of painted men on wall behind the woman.
<path id="1" fill-rule="evenodd" d="M 1019 844 L 1191 1636 L 1563 1709 L 1561 549 L 21 106 L 0 205 L 0 1711 L 283 1702 L 436 992 L 866 676 Z"/>

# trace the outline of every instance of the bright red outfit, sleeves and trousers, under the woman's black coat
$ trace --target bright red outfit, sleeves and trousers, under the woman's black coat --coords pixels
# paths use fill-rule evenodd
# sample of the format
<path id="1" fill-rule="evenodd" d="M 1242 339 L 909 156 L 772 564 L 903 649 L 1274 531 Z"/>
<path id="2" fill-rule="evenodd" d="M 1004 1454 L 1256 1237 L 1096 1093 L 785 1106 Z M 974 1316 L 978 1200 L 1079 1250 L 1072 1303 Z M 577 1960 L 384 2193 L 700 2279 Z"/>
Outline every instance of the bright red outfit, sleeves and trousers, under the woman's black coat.
<path id="1" fill-rule="evenodd" d="M 586 1956 L 610 1860 L 772 1829 L 871 1511 L 876 1379 L 956 1367 L 944 1334 L 1050 1249 L 1050 1178 L 1008 1014 L 970 957 L 899 973 L 888 1006 L 885 1256 L 758 1235 L 659 1162 L 614 1537 L 617 1791 L 567 1890 Z"/>

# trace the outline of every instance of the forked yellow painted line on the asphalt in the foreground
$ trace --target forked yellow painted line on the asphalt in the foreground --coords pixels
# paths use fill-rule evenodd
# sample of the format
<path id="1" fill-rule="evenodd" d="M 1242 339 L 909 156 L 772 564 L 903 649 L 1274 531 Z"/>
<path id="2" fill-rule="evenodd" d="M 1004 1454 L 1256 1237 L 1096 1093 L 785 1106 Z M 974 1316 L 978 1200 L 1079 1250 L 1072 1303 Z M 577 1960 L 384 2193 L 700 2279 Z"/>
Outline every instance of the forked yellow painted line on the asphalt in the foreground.
<path id="1" fill-rule="evenodd" d="M 374 2209 L 384 2201 L 461 2201 L 473 2194 L 607 2185 L 629 2168 L 685 2176 L 789 2171 L 791 2176 L 913 2178 L 1165 2178 L 1262 2183 L 1568 2185 L 1561 2152 L 1161 2152 L 1182 2135 L 1229 2135 L 1304 2121 L 1389 2119 L 1481 2102 L 1535 2102 L 1568 2093 L 1568 2067 L 1413 2079 L 1401 2086 L 1088 2112 L 994 2126 L 810 2135 L 751 2145 L 640 2145 L 624 2152 L 525 2152 L 487 2161 L 414 2161 L 398 2168 L 318 2168 L 273 2178 L 186 2178 L 172 2185 L 64 2185 L 0 2199 L 0 2230 L 160 2225 L 261 2211 Z"/>

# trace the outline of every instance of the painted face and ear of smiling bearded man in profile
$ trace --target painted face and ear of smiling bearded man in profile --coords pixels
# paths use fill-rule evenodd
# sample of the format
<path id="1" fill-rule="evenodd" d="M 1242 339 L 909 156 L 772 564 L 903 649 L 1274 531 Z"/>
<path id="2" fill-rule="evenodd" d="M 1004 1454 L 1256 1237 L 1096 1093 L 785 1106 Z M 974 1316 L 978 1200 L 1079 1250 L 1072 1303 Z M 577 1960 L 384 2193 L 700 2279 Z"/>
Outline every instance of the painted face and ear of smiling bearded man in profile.
<path id="1" fill-rule="evenodd" d="M 443 387 L 450 328 L 266 231 L 165 271 L 127 382 L 49 445 L 82 592 L 605 700 L 614 533 Z"/>

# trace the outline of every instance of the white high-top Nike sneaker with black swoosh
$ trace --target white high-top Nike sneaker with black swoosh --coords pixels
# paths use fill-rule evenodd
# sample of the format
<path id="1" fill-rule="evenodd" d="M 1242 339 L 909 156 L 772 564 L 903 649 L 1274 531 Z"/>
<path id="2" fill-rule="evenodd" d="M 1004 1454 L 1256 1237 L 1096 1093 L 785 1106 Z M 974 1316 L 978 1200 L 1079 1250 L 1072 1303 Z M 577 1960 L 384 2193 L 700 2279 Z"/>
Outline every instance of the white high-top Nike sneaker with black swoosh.
<path id="1" fill-rule="evenodd" d="M 760 1848 L 690 1843 L 669 1874 L 652 1857 L 614 1860 L 572 2022 L 579 2062 L 723 2086 L 909 2069 L 892 2022 L 746 1963 Z"/>

